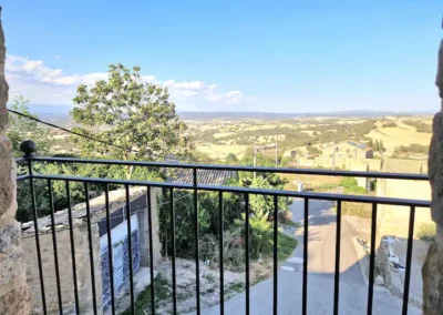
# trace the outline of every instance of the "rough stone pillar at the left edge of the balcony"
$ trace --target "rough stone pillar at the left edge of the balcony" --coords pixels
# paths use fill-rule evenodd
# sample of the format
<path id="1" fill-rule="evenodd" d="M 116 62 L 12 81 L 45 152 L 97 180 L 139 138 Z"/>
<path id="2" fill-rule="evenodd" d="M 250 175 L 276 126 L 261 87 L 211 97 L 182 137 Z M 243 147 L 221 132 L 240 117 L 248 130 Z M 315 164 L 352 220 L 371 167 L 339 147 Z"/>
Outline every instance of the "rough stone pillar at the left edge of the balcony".
<path id="1" fill-rule="evenodd" d="M 0 8 L 1 14 L 1 8 Z M 4 35 L 0 16 L 0 314 L 29 314 L 31 297 L 25 278 L 21 230 L 16 221 L 17 182 L 12 144 L 7 138 L 8 91 L 4 78 Z"/>

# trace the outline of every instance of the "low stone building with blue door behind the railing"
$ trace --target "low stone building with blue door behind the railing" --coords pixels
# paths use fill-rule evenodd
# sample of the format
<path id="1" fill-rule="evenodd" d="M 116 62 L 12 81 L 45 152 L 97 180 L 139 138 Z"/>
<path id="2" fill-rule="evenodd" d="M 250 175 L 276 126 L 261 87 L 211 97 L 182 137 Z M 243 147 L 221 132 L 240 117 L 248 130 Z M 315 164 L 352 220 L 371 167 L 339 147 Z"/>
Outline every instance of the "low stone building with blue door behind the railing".
<path id="1" fill-rule="evenodd" d="M 157 196 L 159 189 L 151 189 L 151 209 L 153 224 L 153 263 L 154 265 L 161 257 L 161 243 L 158 240 L 158 217 L 156 213 Z M 131 189 L 131 240 L 132 240 L 132 261 L 134 277 L 143 270 L 150 267 L 150 230 L 147 213 L 146 189 Z M 105 196 L 101 195 L 90 200 L 91 209 L 91 236 L 94 260 L 94 277 L 96 303 L 100 314 L 105 313 L 111 304 L 111 281 L 109 263 L 107 243 L 107 222 Z M 111 246 L 113 257 L 114 293 L 122 296 L 130 282 L 128 266 L 128 230 L 127 230 L 127 209 L 125 201 L 125 190 L 110 192 L 110 217 L 111 217 Z M 78 204 L 72 207 L 73 235 L 75 245 L 75 266 L 78 277 L 80 314 L 93 314 L 92 281 L 91 281 L 91 260 L 89 250 L 89 230 L 85 204 Z M 55 237 L 58 250 L 58 265 L 60 275 L 60 288 L 62 296 L 63 313 L 75 309 L 74 303 L 74 282 L 71 256 L 71 237 L 68 219 L 68 210 L 59 211 L 54 214 Z M 42 260 L 43 283 L 45 288 L 45 301 L 49 313 L 59 312 L 58 288 L 55 275 L 55 257 L 53 251 L 53 235 L 51 228 L 51 217 L 45 216 L 38 220 L 40 253 Z M 33 314 L 39 314 L 42 307 L 42 296 L 40 287 L 39 264 L 35 247 L 35 230 L 33 222 L 22 224 L 23 248 L 25 251 L 27 280 L 31 288 Z M 127 294 L 123 294 L 127 298 Z"/>

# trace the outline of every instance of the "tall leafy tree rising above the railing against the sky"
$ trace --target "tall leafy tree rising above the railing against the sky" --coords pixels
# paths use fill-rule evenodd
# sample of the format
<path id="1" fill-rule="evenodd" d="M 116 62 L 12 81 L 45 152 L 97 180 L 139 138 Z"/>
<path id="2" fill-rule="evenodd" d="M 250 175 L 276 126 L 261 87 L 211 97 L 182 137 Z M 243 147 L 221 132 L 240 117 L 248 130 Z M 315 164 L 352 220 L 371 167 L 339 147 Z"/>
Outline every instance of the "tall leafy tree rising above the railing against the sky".
<path id="1" fill-rule="evenodd" d="M 184 153 L 186 125 L 176 114 L 167 89 L 143 82 L 140 71 L 138 67 L 130 70 L 111 64 L 107 81 L 78 88 L 76 106 L 71 111 L 81 124 L 75 131 L 119 145 L 75 138 L 83 154 L 128 161 Z M 131 179 L 133 167 L 127 166 L 125 173 Z"/>

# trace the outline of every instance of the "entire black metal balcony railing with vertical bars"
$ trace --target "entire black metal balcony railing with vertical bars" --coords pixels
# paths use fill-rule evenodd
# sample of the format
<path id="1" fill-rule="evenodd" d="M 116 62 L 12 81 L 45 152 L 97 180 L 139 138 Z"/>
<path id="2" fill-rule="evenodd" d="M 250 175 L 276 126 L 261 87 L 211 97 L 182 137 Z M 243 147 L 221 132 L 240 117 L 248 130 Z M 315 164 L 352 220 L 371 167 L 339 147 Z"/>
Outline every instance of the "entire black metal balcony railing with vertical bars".
<path id="1" fill-rule="evenodd" d="M 59 311 L 62 313 L 62 304 L 61 304 L 61 289 L 60 289 L 60 275 L 58 271 L 58 253 L 56 253 L 56 230 L 54 226 L 54 212 L 52 204 L 52 182 L 54 181 L 64 181 L 66 185 L 66 197 L 70 200 L 70 190 L 69 184 L 71 182 L 81 182 L 84 185 L 84 192 L 86 196 L 86 222 L 87 222 L 87 233 L 89 233 L 89 252 L 90 252 L 90 262 L 91 262 L 91 280 L 92 280 L 92 297 L 93 297 L 93 312 L 94 314 L 100 313 L 97 309 L 97 292 L 95 291 L 95 275 L 94 275 L 94 262 L 97 257 L 93 255 L 93 241 L 92 241 L 92 231 L 91 231 L 91 207 L 89 203 L 89 186 L 91 184 L 103 184 L 105 186 L 105 207 L 106 207 L 106 223 L 107 223 L 107 253 L 109 253 L 109 262 L 110 262 L 110 277 L 111 277 L 111 312 L 115 314 L 116 305 L 114 304 L 114 276 L 113 276 L 113 253 L 111 246 L 111 214 L 110 214 L 110 191 L 109 185 L 117 184 L 123 185 L 126 190 L 126 207 L 130 209 L 130 190 L 131 186 L 144 186 L 147 189 L 147 212 L 148 212 L 148 233 L 150 233 L 150 267 L 151 267 L 151 283 L 154 284 L 154 265 L 153 265 L 153 235 L 152 235 L 152 226 L 153 222 L 151 220 L 151 189 L 152 187 L 162 187 L 169 191 L 171 196 L 171 228 L 173 233 L 172 240 L 172 266 L 173 266 L 173 311 L 174 314 L 177 313 L 177 295 L 176 295 L 176 270 L 175 270 L 175 207 L 174 207 L 174 191 L 175 190 L 188 190 L 194 193 L 194 223 L 195 223 L 195 242 L 196 242 L 196 251 L 195 251 L 195 265 L 196 265 L 196 313 L 200 314 L 200 284 L 199 284 L 199 235 L 198 235 L 198 199 L 197 193 L 199 191 L 212 191 L 218 192 L 218 214 L 224 217 L 224 207 L 223 207 L 223 197 L 224 193 L 236 193 L 243 194 L 245 196 L 245 247 L 246 247 L 246 314 L 249 314 L 250 311 L 250 277 L 249 277 L 249 195 L 259 194 L 267 195 L 274 199 L 274 215 L 277 217 L 278 211 L 278 197 L 297 197 L 303 200 L 303 214 L 305 219 L 309 216 L 309 201 L 310 200 L 323 200 L 323 201 L 333 201 L 337 202 L 337 225 L 336 233 L 337 235 L 341 234 L 341 211 L 343 202 L 353 202 L 353 203 L 365 203 L 372 204 L 372 216 L 371 216 L 371 246 L 370 246 L 370 268 L 369 268 L 369 286 L 368 286 L 368 304 L 367 304 L 367 314 L 372 314 L 372 303 L 373 303 L 373 285 L 374 285 L 374 257 L 375 257 L 375 233 L 377 233 L 377 214 L 378 214 L 378 205 L 399 205 L 399 206 L 408 206 L 410 207 L 410 219 L 409 219 L 409 238 L 408 238 L 408 252 L 406 252 L 406 265 L 405 265 L 405 281 L 404 281 L 404 293 L 403 293 L 403 308 L 402 314 L 408 313 L 408 304 L 409 304 L 409 287 L 410 287 L 410 276 L 411 276 L 411 255 L 412 255 L 412 241 L 413 241 L 413 226 L 415 219 L 415 209 L 416 207 L 430 207 L 429 201 L 418 201 L 418 200 L 405 200 L 405 199 L 393 199 L 393 197 L 375 197 L 375 196 L 365 196 L 365 195 L 346 195 L 346 194 L 332 194 L 332 193 L 313 193 L 313 192 L 295 192 L 295 191 L 282 191 L 282 190 L 265 190 L 265 189 L 250 189 L 250 187 L 240 187 L 240 186 L 215 186 L 215 185 L 200 185 L 198 184 L 197 170 L 218 170 L 218 171 L 237 171 L 237 172 L 261 172 L 261 173 L 286 173 L 286 174 L 311 174 L 311 175 L 324 175 L 324 176 L 352 176 L 352 177 L 367 177 L 367 179 L 392 179 L 392 180 L 410 180 L 410 181 L 427 181 L 426 175 L 422 174 L 400 174 L 400 173 L 380 173 L 380 172 L 350 172 L 350 171 L 328 171 L 328 170 L 308 170 L 308 169 L 288 169 L 288 167 L 254 167 L 254 166 L 234 166 L 234 165 L 210 165 L 210 164 L 182 164 L 182 163 L 161 163 L 161 162 L 138 162 L 138 161 L 113 161 L 113 160 L 89 160 L 89 159 L 66 159 L 66 158 L 35 158 L 33 155 L 33 149 L 27 150 L 24 146 L 23 152 L 25 155 L 22 159 L 18 159 L 18 163 L 27 163 L 28 165 L 28 174 L 18 176 L 18 181 L 29 181 L 30 183 L 30 194 L 32 196 L 32 209 L 33 209 L 33 225 L 35 231 L 35 246 L 37 246 L 37 255 L 38 255 L 38 267 L 39 267 L 39 276 L 40 276 L 40 287 L 41 287 L 41 296 L 42 296 L 42 308 L 43 313 L 48 313 L 47 302 L 45 302 L 45 287 L 44 287 L 44 275 L 42 267 L 42 258 L 41 258 L 41 244 L 39 241 L 39 226 L 38 226 L 38 211 L 35 206 L 35 194 L 34 194 L 34 180 L 45 180 L 48 181 L 48 187 L 51 197 L 51 222 L 52 222 L 52 237 L 53 237 L 53 248 L 54 248 L 54 260 L 55 260 L 55 276 L 56 276 L 56 289 L 58 289 L 58 299 L 59 299 Z M 135 181 L 135 180 L 115 180 L 115 179 L 99 179 L 99 177 L 80 177 L 80 176 L 68 176 L 68 175 L 51 175 L 51 174 L 35 174 L 33 173 L 33 163 L 76 163 L 76 164 L 107 164 L 107 165 L 133 165 L 133 166 L 143 166 L 143 167 L 172 167 L 172 169 L 189 169 L 193 170 L 193 183 L 189 184 L 178 184 L 171 182 L 153 182 L 153 181 Z M 70 203 L 70 201 L 69 201 Z M 71 233 L 71 255 L 72 260 L 72 270 L 74 275 L 74 291 L 75 291 L 75 309 L 76 314 L 80 314 L 79 308 L 79 294 L 78 294 L 78 280 L 76 275 L 76 266 L 75 266 L 75 255 L 74 255 L 74 242 L 72 234 L 72 210 L 71 206 L 68 209 L 69 217 L 70 217 L 70 233 Z M 126 221 L 127 221 L 127 232 L 131 235 L 131 211 L 126 212 Z M 223 220 L 219 220 L 219 235 L 223 237 Z M 309 314 L 307 307 L 308 301 L 308 228 L 309 222 L 305 220 L 303 223 L 305 235 L 303 235 L 303 272 L 302 272 L 302 305 L 301 313 Z M 274 220 L 274 314 L 278 314 L 278 222 Z M 339 314 L 339 294 L 340 294 L 340 237 L 336 237 L 336 261 L 334 261 L 334 293 L 333 293 L 333 314 Z M 134 280 L 133 280 L 133 267 L 132 267 L 132 246 L 131 246 L 131 236 L 128 237 L 130 242 L 130 286 L 131 286 L 131 312 L 135 314 L 135 301 L 134 301 Z M 224 309 L 224 255 L 223 255 L 223 240 L 219 242 L 219 282 L 220 282 L 220 296 L 219 296 L 219 307 L 220 314 L 225 313 Z M 155 314 L 155 287 L 152 285 L 151 287 L 151 312 Z"/>

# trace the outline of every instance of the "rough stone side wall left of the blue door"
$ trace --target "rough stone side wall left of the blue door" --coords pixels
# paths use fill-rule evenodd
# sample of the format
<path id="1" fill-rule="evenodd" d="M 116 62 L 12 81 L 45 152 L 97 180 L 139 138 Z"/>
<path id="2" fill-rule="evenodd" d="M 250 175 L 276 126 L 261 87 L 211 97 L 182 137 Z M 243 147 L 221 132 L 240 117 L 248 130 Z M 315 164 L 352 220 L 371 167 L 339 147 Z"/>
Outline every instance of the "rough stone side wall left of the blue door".
<path id="1" fill-rule="evenodd" d="M 75 226 L 73 231 L 80 314 L 93 314 L 87 227 L 85 225 Z M 94 253 L 95 292 L 97 298 L 97 311 L 100 314 L 102 312 L 102 278 L 100 236 L 99 226 L 96 224 L 92 225 L 92 240 Z M 75 309 L 70 231 L 58 231 L 56 243 L 61 295 L 64 309 L 63 313 L 69 314 L 70 311 L 72 312 Z M 28 284 L 32 293 L 32 314 L 43 314 L 35 237 L 25 236 L 25 238 L 23 238 L 22 246 L 25 252 Z M 52 246 L 51 233 L 40 234 L 40 248 L 43 266 L 43 283 L 47 298 L 47 308 L 49 314 L 58 314 L 59 302 L 56 295 L 58 291 L 54 268 L 54 252 Z"/>

